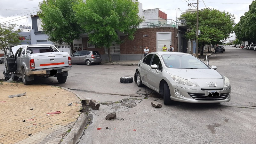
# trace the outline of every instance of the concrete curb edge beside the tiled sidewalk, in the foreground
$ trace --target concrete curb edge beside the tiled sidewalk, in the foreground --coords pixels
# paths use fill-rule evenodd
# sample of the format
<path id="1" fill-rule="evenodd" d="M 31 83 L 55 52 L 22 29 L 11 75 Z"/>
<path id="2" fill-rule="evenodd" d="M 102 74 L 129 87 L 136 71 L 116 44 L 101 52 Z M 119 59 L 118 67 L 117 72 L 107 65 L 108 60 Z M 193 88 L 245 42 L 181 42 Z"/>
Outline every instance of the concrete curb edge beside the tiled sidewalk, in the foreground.
<path id="1" fill-rule="evenodd" d="M 85 114 L 80 114 L 78 117 L 75 125 L 72 127 L 71 131 L 68 133 L 68 135 L 64 138 L 64 140 L 60 144 L 76 144 L 83 132 L 85 125 L 87 124 L 88 116 Z"/>

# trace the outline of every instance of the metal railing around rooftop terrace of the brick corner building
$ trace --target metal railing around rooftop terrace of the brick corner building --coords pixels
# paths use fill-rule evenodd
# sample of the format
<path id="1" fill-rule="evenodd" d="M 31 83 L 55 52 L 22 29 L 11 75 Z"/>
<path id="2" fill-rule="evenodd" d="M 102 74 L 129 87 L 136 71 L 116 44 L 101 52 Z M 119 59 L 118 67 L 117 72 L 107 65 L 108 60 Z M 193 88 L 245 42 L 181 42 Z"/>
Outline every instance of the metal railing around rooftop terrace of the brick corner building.
<path id="1" fill-rule="evenodd" d="M 177 28 L 177 22 L 171 19 L 152 19 L 144 20 L 137 28 L 156 28 L 156 27 L 172 27 Z"/>

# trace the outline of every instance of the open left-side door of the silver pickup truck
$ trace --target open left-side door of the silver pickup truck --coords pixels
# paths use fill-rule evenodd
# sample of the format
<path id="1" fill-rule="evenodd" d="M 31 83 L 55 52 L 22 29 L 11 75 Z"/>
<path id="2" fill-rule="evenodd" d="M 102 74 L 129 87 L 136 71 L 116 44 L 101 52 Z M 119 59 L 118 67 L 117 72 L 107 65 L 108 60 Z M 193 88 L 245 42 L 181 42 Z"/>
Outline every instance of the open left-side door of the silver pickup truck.
<path id="1" fill-rule="evenodd" d="M 4 65 L 6 72 L 11 73 L 17 70 L 17 64 L 11 49 L 6 48 L 4 52 Z"/>

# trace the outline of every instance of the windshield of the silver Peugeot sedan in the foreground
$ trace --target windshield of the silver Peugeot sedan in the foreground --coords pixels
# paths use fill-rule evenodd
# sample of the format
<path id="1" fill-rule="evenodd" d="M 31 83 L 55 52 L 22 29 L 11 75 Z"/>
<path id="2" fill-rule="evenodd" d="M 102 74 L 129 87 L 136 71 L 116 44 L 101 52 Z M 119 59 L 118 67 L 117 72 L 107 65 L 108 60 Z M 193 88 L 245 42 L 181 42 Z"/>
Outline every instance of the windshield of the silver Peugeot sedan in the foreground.
<path id="1" fill-rule="evenodd" d="M 183 69 L 209 69 L 204 62 L 192 55 L 184 54 L 164 54 L 162 55 L 164 64 L 168 68 Z"/>

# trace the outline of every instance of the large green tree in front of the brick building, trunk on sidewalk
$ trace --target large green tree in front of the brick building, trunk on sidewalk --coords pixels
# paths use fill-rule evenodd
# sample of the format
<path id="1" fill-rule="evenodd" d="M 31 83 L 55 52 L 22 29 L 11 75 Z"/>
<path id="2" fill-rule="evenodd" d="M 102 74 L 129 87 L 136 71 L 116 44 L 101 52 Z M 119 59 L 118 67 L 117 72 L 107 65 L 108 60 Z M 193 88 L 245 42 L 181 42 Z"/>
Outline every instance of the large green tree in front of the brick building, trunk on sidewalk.
<path id="1" fill-rule="evenodd" d="M 133 0 L 79 0 L 74 5 L 78 24 L 88 34 L 89 42 L 108 48 L 108 61 L 112 62 L 110 46 L 122 41 L 118 33 L 128 34 L 134 39 L 137 26 L 143 22 L 138 15 L 139 3 Z"/>

